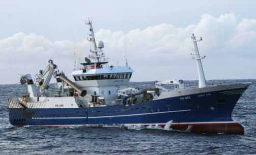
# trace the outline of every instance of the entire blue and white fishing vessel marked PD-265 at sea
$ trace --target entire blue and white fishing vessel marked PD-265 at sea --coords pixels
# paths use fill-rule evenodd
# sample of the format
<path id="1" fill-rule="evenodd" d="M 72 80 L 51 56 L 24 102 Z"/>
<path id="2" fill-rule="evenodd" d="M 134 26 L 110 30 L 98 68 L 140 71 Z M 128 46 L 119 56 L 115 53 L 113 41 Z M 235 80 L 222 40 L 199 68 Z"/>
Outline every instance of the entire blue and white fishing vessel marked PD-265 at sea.
<path id="1" fill-rule="evenodd" d="M 91 50 L 84 63 L 66 77 L 49 60 L 33 81 L 31 74 L 19 75 L 21 84 L 27 84 L 27 94 L 9 99 L 9 120 L 13 126 L 66 127 L 84 125 L 169 126 L 178 131 L 209 134 L 243 135 L 243 127 L 233 121 L 232 111 L 251 83 L 206 85 L 205 75 L 192 35 L 198 69 L 198 86 L 185 87 L 183 80 L 155 81 L 154 88 L 139 90 L 127 87 L 133 74 L 131 67 L 109 66 L 102 50 L 96 44 L 92 22 Z M 54 77 L 58 94 L 51 95 L 49 82 Z M 172 85 L 166 89 L 164 85 Z M 40 88 L 38 94 L 37 87 Z M 171 123 L 170 123 L 171 122 Z"/>

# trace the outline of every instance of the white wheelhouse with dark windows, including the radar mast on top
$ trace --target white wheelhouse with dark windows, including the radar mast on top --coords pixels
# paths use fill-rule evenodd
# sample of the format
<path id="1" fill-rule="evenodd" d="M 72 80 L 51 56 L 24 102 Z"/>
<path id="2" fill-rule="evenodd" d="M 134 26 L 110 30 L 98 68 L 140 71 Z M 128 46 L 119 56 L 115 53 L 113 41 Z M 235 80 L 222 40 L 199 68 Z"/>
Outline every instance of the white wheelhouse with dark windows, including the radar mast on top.
<path id="1" fill-rule="evenodd" d="M 129 66 L 107 66 L 107 58 L 102 58 L 105 56 L 102 50 L 104 43 L 99 41 L 96 44 L 92 21 L 86 22 L 86 24 L 90 26 L 91 34 L 88 41 L 91 42 L 91 54 L 85 58 L 86 63 L 81 63 L 82 67 L 71 74 L 76 84 L 80 88 L 87 90 L 87 95 L 79 97 L 79 100 L 86 104 L 89 102 L 89 104 L 92 102 L 97 103 L 99 100 L 104 105 L 121 104 L 121 97 L 118 95 L 118 91 L 127 87 L 134 71 Z M 64 86 L 64 88 L 67 90 L 68 87 Z M 71 87 L 69 90 L 74 91 Z"/>

